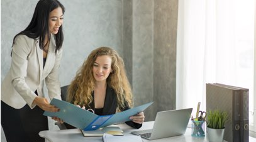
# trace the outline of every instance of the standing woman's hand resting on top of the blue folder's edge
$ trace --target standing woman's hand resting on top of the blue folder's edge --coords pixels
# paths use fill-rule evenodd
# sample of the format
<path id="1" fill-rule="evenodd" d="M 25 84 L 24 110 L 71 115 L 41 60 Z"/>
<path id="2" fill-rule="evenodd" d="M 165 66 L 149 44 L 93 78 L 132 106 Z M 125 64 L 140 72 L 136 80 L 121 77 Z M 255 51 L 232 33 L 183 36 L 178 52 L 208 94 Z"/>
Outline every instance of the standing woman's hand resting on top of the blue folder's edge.
<path id="1" fill-rule="evenodd" d="M 50 112 L 58 112 L 60 109 L 57 107 L 49 104 L 48 100 L 44 97 L 36 97 L 33 101 L 33 104 L 36 104 L 38 107 L 43 109 L 43 111 L 50 111 Z"/>

